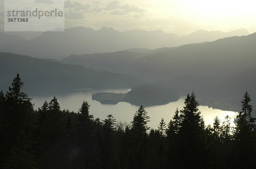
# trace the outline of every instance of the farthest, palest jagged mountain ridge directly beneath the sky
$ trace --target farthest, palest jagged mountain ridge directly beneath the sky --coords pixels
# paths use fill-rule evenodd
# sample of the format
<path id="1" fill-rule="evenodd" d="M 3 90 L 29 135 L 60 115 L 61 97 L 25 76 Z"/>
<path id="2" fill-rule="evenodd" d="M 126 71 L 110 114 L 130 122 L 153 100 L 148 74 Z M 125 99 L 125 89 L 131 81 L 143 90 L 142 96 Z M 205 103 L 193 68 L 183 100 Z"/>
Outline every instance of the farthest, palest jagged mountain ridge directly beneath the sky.
<path id="1" fill-rule="evenodd" d="M 2 33 L 3 34 L 3 33 Z M 60 59 L 72 54 L 96 54 L 122 51 L 131 48 L 156 49 L 176 47 L 189 43 L 213 41 L 216 39 L 249 34 L 246 29 L 231 32 L 196 31 L 179 37 L 161 30 L 132 30 L 119 32 L 113 28 L 75 27 L 64 32 L 44 32 L 41 36 L 25 41 L 11 41 L 0 47 L 2 52 L 29 55 L 39 58 Z M 13 36 L 13 35 L 8 35 Z"/>

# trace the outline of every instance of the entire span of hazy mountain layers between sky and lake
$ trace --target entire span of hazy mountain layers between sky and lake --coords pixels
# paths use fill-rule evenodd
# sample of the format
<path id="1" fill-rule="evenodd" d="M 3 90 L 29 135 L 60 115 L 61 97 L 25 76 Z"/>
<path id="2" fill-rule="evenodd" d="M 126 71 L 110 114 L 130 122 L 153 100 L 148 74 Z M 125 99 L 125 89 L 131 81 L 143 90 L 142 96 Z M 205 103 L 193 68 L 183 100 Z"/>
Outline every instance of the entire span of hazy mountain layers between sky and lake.
<path id="1" fill-rule="evenodd" d="M 137 36 L 133 36 L 133 33 L 137 33 Z M 220 32 L 208 33 L 215 34 L 214 37 L 217 38 L 216 34 Z M 113 34 L 118 36 L 112 36 Z M 135 43 L 136 37 L 140 39 L 150 34 L 158 36 L 165 33 L 138 30 L 122 33 L 113 28 L 94 31 L 90 28 L 77 27 L 67 29 L 65 32 L 46 32 L 32 40 L 0 34 L 1 37 L 9 39 L 1 40 L 2 48 L 4 45 L 12 44 L 9 47 L 17 50 L 17 53 L 30 53 L 31 56 L 44 58 L 0 53 L 0 76 L 3 79 L 0 87 L 6 88 L 15 74 L 20 73 L 31 93 L 46 93 L 46 91 L 61 93 L 79 88 L 131 87 L 131 98 L 139 98 L 134 91 L 148 88 L 148 92 L 145 93 L 147 96 L 154 84 L 153 86 L 161 86 L 158 87 L 161 88 L 160 93 L 166 90 L 168 93 L 186 96 L 187 93 L 195 91 L 201 104 L 234 111 L 239 110 L 241 96 L 246 90 L 251 96 L 256 96 L 256 33 L 175 47 L 162 48 L 163 43 L 161 43 L 159 45 L 161 48 L 154 50 L 145 44 L 154 45 L 161 39 L 165 42 L 165 38 L 184 39 L 185 37 L 177 37 L 174 34 L 159 35 L 159 39 L 152 42 L 150 39 L 146 42 L 141 40 L 145 46 L 142 46 L 140 41 Z M 197 34 L 204 34 L 202 39 L 207 38 L 207 31 L 198 31 L 186 38 L 195 39 L 199 36 Z M 130 38 L 127 42 L 125 35 Z M 107 37 L 111 36 L 113 38 L 107 42 L 109 39 Z M 84 39 L 85 37 L 88 39 Z M 127 45 L 132 39 L 135 44 Z M 100 42 L 98 46 L 95 45 L 96 42 Z M 168 42 L 169 46 L 172 46 L 170 43 Z M 121 47 L 126 50 L 85 54 L 90 53 L 88 52 L 90 50 L 91 52 L 97 49 L 113 51 Z M 7 49 L 6 47 L 5 50 Z M 67 57 L 56 59 L 57 56 L 64 55 Z M 158 90 L 157 87 L 153 88 Z M 166 102 L 168 98 L 163 100 Z M 140 100 L 136 102 L 139 103 Z M 254 99 L 252 104 L 256 105 Z"/>

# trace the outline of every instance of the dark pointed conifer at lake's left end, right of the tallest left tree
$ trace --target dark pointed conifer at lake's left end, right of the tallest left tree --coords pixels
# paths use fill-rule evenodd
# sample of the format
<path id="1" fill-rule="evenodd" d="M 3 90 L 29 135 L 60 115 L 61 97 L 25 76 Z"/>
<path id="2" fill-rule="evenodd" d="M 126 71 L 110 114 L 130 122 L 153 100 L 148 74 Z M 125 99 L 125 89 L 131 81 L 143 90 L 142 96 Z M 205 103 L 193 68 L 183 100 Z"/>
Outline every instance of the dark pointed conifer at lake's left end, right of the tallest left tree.
<path id="1" fill-rule="evenodd" d="M 47 107 L 46 102 L 43 107 Z M 66 137 L 66 118 L 61 111 L 57 98 L 54 96 L 49 102 L 49 110 L 47 110 L 46 119 L 37 139 L 39 150 L 36 157 L 41 168 L 61 168 L 65 165 L 62 161 L 65 153 Z"/>

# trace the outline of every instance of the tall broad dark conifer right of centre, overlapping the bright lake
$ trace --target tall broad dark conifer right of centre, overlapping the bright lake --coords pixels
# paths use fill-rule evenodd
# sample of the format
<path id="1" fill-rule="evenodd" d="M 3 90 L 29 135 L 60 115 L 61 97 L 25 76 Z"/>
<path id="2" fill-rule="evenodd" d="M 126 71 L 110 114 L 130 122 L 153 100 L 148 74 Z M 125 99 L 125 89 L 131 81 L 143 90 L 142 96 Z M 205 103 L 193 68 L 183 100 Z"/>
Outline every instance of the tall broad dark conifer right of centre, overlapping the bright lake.
<path id="1" fill-rule="evenodd" d="M 185 168 L 206 167 L 204 120 L 194 92 L 187 95 L 184 104 L 185 107 L 180 112 L 178 165 Z"/>

